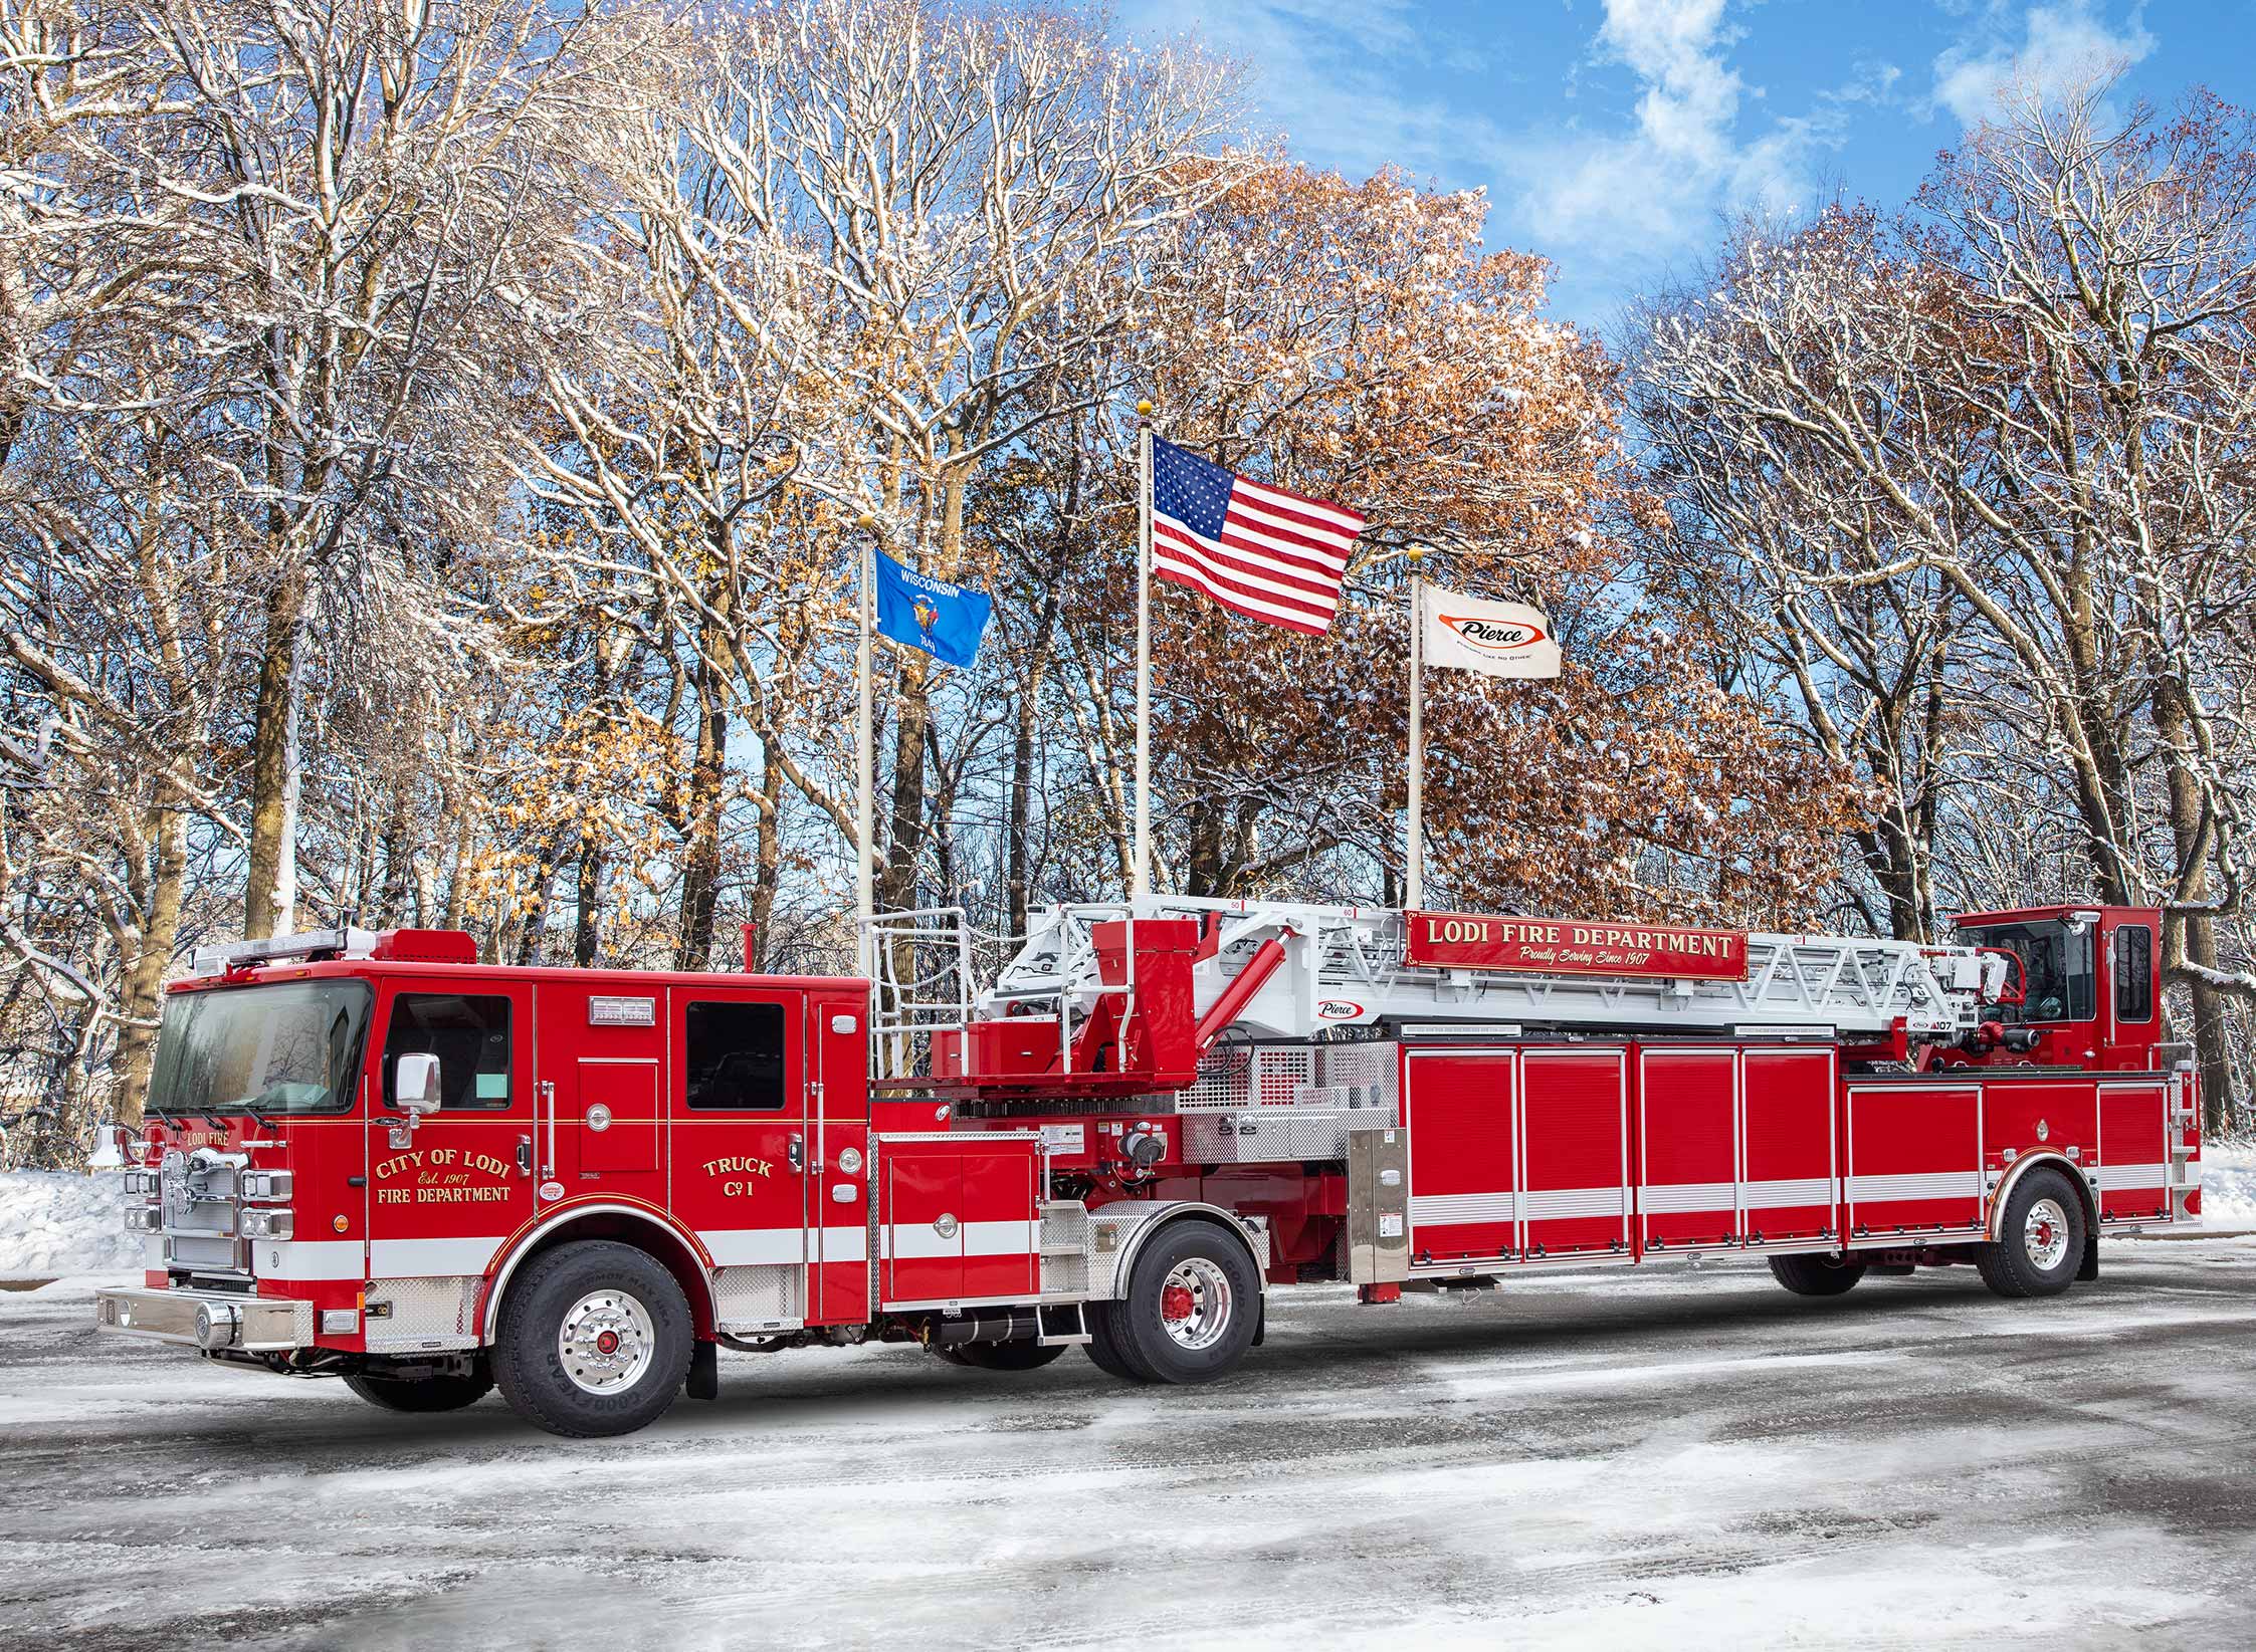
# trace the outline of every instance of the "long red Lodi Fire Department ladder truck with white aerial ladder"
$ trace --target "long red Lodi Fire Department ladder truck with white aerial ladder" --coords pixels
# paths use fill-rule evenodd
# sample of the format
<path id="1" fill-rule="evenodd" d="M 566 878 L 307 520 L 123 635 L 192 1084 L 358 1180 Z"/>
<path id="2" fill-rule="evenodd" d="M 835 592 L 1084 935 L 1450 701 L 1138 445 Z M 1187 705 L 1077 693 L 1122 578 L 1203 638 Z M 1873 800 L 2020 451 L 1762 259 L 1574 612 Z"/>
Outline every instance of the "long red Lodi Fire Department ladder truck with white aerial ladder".
<path id="1" fill-rule="evenodd" d="M 1151 897 L 1051 908 L 986 983 L 954 908 L 875 920 L 869 978 L 246 942 L 167 998 L 147 1280 L 97 1316 L 596 1436 L 713 1397 L 722 1345 L 1202 1382 L 1308 1280 L 1760 1255 L 1805 1296 L 1958 1262 L 2051 1296 L 2200 1219 L 2154 940 Z"/>

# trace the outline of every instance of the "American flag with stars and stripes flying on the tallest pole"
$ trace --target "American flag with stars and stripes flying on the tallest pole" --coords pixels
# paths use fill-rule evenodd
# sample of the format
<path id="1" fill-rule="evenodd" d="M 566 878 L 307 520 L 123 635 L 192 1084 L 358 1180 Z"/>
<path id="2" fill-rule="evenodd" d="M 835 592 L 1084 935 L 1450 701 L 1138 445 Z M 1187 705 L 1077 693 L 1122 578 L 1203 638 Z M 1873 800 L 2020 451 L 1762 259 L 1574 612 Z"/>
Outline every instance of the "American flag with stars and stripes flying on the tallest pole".
<path id="1" fill-rule="evenodd" d="M 1151 570 L 1232 613 L 1324 636 L 1363 516 L 1151 442 Z"/>

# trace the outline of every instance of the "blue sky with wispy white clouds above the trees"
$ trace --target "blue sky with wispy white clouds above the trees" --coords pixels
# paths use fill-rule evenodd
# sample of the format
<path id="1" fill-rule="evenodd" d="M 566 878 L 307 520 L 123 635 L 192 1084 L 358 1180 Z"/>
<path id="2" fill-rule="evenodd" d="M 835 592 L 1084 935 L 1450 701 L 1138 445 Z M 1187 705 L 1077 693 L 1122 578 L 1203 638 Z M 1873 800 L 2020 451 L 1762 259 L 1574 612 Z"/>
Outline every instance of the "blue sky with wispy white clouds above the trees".
<path id="1" fill-rule="evenodd" d="M 1559 266 L 1606 327 L 1724 214 L 1834 189 L 1904 201 L 2010 77 L 2121 59 L 2123 97 L 2256 104 L 2256 0 L 1121 0 L 1257 65 L 1270 131 L 1320 167 L 1489 192 L 1489 243 Z"/>

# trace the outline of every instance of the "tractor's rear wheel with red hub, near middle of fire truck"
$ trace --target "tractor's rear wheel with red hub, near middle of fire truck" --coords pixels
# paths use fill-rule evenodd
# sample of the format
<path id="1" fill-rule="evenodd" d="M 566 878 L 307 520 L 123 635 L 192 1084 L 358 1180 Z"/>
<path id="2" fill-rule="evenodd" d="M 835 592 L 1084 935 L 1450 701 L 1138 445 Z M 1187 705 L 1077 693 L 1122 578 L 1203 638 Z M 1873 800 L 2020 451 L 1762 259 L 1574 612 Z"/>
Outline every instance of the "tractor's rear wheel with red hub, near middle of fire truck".
<path id="1" fill-rule="evenodd" d="M 1114 1350 L 1146 1382 L 1214 1382 L 1252 1348 L 1261 1276 L 1236 1235 L 1175 1222 L 1137 1253 L 1108 1307 Z"/>

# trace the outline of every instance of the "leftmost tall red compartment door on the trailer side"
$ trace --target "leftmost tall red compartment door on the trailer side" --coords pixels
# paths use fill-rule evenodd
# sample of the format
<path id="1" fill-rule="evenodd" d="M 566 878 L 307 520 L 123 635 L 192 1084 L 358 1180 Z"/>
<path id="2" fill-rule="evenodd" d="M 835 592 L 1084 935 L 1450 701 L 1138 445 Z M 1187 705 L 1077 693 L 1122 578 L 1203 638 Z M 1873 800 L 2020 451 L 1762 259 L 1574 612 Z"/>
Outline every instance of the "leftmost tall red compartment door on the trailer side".
<path id="1" fill-rule="evenodd" d="M 1512 1050 L 1410 1050 L 1403 1059 L 1412 1269 L 1518 1255 L 1514 1068 Z"/>

